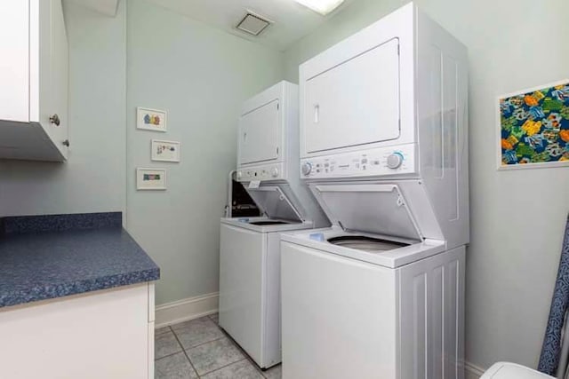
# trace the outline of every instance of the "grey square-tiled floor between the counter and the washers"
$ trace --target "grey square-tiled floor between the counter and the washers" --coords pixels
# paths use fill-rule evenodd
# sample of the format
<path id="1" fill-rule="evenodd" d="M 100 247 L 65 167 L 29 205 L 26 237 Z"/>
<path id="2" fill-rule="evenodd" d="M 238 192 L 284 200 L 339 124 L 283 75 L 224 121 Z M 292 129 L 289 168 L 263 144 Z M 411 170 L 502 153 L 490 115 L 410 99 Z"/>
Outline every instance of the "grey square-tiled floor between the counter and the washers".
<path id="1" fill-rule="evenodd" d="M 217 322 L 216 313 L 156 329 L 156 379 L 280 379 L 280 365 L 261 371 Z"/>

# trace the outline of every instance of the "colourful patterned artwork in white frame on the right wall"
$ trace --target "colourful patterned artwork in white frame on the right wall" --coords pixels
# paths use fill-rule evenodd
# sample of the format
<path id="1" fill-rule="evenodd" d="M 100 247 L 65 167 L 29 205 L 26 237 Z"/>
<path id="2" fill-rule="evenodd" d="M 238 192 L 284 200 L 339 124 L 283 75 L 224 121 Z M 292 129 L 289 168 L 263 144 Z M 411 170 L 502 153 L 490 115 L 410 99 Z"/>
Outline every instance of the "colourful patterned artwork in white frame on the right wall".
<path id="1" fill-rule="evenodd" d="M 569 165 L 569 79 L 498 101 L 499 170 Z"/>

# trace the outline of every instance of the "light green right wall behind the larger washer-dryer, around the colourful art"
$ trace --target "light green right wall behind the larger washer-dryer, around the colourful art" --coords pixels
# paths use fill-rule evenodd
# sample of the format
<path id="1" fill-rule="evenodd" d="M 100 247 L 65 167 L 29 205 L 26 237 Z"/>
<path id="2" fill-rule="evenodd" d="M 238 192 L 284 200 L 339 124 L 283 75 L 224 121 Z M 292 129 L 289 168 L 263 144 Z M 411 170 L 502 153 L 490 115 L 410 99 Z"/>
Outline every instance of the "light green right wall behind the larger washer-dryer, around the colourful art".
<path id="1" fill-rule="evenodd" d="M 286 78 L 406 1 L 357 0 L 284 51 Z M 466 356 L 537 365 L 556 278 L 569 169 L 496 170 L 496 97 L 569 77 L 566 0 L 418 0 L 469 48 L 470 225 Z"/>

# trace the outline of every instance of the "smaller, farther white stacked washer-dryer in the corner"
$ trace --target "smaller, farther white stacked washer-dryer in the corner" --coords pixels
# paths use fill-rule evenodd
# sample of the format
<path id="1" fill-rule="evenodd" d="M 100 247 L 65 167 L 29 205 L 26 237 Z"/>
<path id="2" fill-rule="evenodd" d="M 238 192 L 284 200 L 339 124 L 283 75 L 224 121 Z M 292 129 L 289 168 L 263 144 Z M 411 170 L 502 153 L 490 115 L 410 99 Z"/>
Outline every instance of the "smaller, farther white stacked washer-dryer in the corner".
<path id="1" fill-rule="evenodd" d="M 220 326 L 263 368 L 281 361 L 280 234 L 330 225 L 300 180 L 298 86 L 244 103 L 237 180 L 263 217 L 222 218 Z"/>

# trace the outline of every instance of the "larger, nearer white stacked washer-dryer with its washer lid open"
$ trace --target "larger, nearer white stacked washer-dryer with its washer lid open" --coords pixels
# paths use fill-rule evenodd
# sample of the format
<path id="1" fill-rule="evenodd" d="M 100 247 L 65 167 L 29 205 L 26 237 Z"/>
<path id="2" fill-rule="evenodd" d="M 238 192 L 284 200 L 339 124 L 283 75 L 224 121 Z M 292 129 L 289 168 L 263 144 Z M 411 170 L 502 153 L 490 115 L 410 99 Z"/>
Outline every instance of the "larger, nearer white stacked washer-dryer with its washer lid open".
<path id="1" fill-rule="evenodd" d="M 301 178 L 333 226 L 282 236 L 284 379 L 463 377 L 467 79 L 414 4 L 301 65 Z"/>

